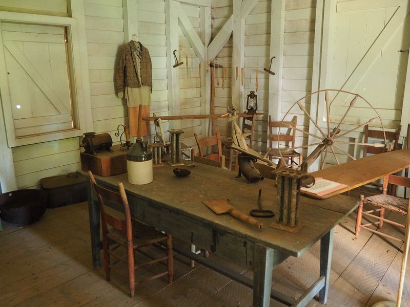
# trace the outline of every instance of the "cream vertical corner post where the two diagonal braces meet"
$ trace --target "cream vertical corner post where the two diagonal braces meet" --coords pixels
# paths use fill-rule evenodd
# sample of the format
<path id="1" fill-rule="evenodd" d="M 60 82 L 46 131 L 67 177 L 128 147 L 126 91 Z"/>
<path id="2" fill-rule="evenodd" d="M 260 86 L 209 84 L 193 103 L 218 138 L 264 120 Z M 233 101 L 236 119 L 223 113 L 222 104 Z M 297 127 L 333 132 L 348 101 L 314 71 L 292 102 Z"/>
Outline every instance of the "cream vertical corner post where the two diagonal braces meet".
<path id="1" fill-rule="evenodd" d="M 201 114 L 210 114 L 211 107 L 211 70 L 208 60 L 208 45 L 211 41 L 211 8 L 200 8 L 200 37 L 205 47 L 205 60 L 201 65 Z M 201 136 L 209 136 L 210 133 L 210 121 L 209 119 L 201 119 Z"/>

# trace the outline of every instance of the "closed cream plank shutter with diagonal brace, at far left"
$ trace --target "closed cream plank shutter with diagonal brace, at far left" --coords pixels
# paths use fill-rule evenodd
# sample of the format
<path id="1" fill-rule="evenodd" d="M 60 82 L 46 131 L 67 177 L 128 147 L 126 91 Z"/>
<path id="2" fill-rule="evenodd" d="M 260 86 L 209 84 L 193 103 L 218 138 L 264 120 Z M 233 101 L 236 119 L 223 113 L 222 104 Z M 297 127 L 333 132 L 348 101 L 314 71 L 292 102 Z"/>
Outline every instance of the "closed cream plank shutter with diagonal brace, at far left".
<path id="1" fill-rule="evenodd" d="M 2 23 L 16 138 L 74 127 L 65 27 Z"/>

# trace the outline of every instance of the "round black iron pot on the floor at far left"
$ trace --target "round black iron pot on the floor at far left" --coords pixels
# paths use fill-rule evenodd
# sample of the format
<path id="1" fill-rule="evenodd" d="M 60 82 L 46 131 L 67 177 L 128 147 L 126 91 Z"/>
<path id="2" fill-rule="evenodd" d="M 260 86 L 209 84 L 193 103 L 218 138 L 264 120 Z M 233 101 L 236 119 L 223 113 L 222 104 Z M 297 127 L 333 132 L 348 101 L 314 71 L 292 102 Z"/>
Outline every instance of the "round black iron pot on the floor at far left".
<path id="1" fill-rule="evenodd" d="M 28 225 L 46 212 L 47 192 L 43 190 L 16 190 L 0 195 L 0 217 L 8 223 Z"/>

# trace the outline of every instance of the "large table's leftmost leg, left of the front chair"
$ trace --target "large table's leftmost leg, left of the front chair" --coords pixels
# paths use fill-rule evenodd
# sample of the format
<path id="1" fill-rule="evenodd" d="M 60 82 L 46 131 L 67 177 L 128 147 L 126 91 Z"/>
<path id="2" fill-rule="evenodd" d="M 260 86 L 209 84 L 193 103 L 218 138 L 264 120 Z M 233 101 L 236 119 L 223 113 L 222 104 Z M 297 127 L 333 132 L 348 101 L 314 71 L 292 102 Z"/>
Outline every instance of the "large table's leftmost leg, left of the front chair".
<path id="1" fill-rule="evenodd" d="M 100 236 L 99 236 L 99 208 L 97 200 L 94 198 L 94 187 L 91 180 L 87 180 L 88 214 L 90 218 L 91 253 L 94 268 L 100 266 Z"/>

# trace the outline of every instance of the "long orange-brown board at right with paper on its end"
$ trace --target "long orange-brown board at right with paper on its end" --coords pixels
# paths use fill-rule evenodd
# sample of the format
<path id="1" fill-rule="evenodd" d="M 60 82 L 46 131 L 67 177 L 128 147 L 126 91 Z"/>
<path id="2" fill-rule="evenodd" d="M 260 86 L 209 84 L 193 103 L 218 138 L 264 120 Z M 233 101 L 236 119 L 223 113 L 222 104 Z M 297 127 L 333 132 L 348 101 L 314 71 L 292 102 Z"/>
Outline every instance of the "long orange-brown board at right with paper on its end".
<path id="1" fill-rule="evenodd" d="M 340 190 L 318 196 L 320 199 L 352 190 L 410 166 L 410 149 L 400 149 L 367 156 L 310 173 L 315 178 L 343 183 Z M 303 194 L 303 191 L 302 191 Z"/>

